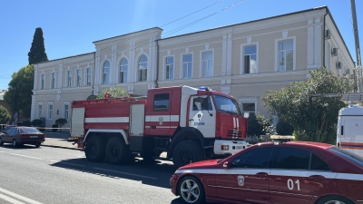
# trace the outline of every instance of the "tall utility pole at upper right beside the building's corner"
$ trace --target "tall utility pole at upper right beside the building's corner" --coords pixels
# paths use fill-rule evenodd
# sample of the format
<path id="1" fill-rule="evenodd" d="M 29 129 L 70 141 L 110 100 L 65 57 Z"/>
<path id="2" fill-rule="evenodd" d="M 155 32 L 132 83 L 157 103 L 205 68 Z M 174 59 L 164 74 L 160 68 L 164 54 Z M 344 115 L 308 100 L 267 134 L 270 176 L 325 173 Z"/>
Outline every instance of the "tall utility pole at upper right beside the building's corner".
<path id="1" fill-rule="evenodd" d="M 357 14 L 356 14 L 356 1 L 355 0 L 350 0 L 350 5 L 351 5 L 351 12 L 352 12 L 352 19 L 353 19 L 353 30 L 354 30 L 354 40 L 355 40 L 355 44 L 356 44 L 356 56 L 357 56 L 357 67 L 355 70 L 357 70 L 355 72 L 355 76 L 354 76 L 354 80 L 355 80 L 355 85 L 357 84 L 357 78 L 358 78 L 358 86 L 359 86 L 359 92 L 362 92 L 363 87 L 362 87 L 362 82 L 361 82 L 361 78 L 362 78 L 362 63 L 360 61 L 360 48 L 359 48 L 359 35 L 358 35 L 358 24 L 357 24 Z M 356 89 L 356 88 L 355 88 Z M 356 92 L 356 90 L 354 90 Z"/>

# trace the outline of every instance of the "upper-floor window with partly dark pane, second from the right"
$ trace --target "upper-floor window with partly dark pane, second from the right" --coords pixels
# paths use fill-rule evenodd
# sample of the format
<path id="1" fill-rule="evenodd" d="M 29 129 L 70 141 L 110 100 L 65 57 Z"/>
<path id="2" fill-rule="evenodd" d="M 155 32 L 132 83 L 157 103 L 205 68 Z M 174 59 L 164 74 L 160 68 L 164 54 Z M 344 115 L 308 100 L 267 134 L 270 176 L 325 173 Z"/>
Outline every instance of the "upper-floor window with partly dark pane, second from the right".
<path id="1" fill-rule="evenodd" d="M 257 73 L 257 46 L 243 47 L 243 73 Z"/>

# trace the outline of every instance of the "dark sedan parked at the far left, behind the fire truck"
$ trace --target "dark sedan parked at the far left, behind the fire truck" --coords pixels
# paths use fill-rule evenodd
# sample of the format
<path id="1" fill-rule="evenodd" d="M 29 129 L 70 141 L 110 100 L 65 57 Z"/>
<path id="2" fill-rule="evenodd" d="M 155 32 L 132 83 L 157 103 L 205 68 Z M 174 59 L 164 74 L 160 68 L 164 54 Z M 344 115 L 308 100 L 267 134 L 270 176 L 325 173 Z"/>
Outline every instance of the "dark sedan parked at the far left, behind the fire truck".
<path id="1" fill-rule="evenodd" d="M 32 127 L 12 127 L 0 134 L 0 145 L 13 143 L 14 147 L 23 144 L 33 144 L 39 147 L 45 141 L 45 135 Z"/>

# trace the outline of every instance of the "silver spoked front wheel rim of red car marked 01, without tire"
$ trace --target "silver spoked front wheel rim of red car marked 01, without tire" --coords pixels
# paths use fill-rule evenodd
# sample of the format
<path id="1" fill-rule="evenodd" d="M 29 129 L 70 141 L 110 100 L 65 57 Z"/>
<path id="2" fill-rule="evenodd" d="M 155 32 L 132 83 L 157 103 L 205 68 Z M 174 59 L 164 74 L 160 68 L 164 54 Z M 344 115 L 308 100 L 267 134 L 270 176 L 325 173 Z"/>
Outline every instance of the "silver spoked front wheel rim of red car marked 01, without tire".
<path id="1" fill-rule="evenodd" d="M 180 192 L 182 199 L 188 203 L 196 202 L 201 196 L 201 189 L 194 180 L 184 180 Z"/>

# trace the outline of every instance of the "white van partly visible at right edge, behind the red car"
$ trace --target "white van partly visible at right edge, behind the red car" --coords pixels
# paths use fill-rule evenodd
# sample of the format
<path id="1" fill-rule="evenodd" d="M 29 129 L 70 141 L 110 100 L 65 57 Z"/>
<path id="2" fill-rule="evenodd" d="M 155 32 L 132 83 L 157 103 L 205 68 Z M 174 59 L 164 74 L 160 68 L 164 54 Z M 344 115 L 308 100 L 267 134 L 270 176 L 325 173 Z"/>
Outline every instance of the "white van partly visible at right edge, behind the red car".
<path id="1" fill-rule="evenodd" d="M 363 107 L 349 105 L 340 109 L 337 146 L 363 156 Z"/>

